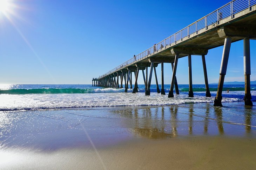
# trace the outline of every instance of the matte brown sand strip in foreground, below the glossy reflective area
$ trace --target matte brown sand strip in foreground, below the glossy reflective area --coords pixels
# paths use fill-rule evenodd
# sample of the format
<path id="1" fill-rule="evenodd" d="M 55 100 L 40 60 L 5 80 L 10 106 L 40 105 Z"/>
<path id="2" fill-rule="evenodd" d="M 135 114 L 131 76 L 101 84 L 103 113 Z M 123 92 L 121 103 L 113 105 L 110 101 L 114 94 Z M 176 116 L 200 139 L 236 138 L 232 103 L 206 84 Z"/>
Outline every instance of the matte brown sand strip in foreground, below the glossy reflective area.
<path id="1" fill-rule="evenodd" d="M 9 150 L 1 153 L 1 169 L 255 169 L 255 142 L 194 136 L 140 139 L 95 150 Z"/>

